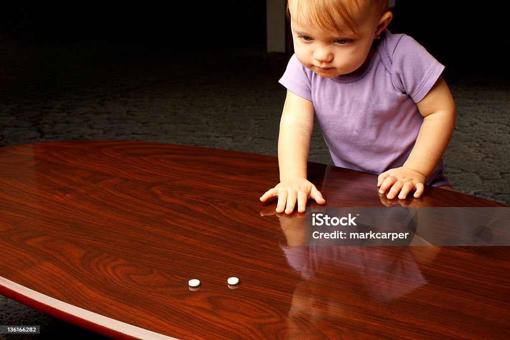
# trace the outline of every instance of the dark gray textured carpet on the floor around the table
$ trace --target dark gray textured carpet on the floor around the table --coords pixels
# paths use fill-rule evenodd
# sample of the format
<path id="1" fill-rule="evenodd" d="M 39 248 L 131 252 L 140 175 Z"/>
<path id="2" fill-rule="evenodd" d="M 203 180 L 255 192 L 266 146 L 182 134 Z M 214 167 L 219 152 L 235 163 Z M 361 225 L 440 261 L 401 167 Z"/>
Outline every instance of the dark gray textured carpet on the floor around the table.
<path id="1" fill-rule="evenodd" d="M 289 57 L 259 45 L 194 51 L 147 40 L 3 43 L 0 146 L 116 139 L 275 155 L 285 97 L 277 80 Z M 446 66 L 457 106 L 446 174 L 457 191 L 510 204 L 507 75 Z M 310 160 L 331 164 L 317 124 Z M 42 325 L 43 338 L 90 336 L 4 297 L 0 324 Z"/>

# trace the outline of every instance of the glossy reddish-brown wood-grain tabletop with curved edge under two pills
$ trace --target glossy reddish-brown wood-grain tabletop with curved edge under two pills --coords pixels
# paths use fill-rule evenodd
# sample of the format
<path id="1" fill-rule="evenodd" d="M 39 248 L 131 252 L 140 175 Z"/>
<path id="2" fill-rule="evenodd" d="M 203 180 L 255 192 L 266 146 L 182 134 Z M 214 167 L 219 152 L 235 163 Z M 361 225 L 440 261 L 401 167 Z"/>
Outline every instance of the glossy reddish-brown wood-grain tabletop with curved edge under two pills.
<path id="1" fill-rule="evenodd" d="M 437 188 L 388 201 L 375 175 L 321 164 L 309 177 L 328 206 L 503 206 Z M 302 214 L 259 201 L 277 181 L 273 156 L 197 146 L 0 148 L 0 294 L 116 338 L 510 333 L 508 247 L 303 246 Z"/>

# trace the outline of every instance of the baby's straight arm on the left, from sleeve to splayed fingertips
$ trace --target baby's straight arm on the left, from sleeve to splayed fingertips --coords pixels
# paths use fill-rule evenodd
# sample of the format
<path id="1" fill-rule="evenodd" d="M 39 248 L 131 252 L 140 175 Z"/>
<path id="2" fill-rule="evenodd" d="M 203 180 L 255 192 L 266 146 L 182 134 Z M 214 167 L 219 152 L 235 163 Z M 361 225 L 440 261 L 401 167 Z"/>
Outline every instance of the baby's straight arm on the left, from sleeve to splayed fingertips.
<path id="1" fill-rule="evenodd" d="M 304 213 L 309 197 L 319 204 L 326 202 L 322 194 L 307 179 L 307 161 L 313 125 L 312 102 L 287 90 L 278 136 L 280 182 L 260 198 L 265 202 L 271 197 L 278 197 L 277 213 L 285 211 L 286 214 L 292 214 L 296 201 L 297 211 Z"/>

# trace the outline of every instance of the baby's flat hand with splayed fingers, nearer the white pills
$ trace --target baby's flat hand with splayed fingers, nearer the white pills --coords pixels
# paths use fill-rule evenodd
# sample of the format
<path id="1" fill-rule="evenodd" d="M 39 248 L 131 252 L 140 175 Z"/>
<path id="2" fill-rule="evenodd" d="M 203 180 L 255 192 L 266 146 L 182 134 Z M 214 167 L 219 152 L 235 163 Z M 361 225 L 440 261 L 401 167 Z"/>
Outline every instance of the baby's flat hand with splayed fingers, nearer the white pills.
<path id="1" fill-rule="evenodd" d="M 304 208 L 307 206 L 309 198 L 314 199 L 319 204 L 326 203 L 320 191 L 308 179 L 294 176 L 280 182 L 273 189 L 269 189 L 260 200 L 267 201 L 271 197 L 278 197 L 276 204 L 276 212 L 285 214 L 292 214 L 297 201 L 297 211 L 304 213 Z"/>

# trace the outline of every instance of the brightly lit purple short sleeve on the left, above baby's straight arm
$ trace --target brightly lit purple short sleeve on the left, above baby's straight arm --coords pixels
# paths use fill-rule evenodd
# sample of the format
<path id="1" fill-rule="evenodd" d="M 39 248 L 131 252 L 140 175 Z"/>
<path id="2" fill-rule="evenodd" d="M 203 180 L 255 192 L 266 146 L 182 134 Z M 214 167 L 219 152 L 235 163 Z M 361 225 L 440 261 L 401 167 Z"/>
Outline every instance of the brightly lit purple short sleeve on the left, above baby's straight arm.
<path id="1" fill-rule="evenodd" d="M 299 62 L 294 54 L 290 58 L 287 69 L 279 80 L 279 83 L 298 96 L 312 101 L 312 75 L 310 72 Z"/>

